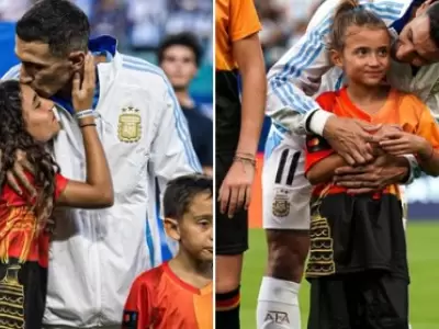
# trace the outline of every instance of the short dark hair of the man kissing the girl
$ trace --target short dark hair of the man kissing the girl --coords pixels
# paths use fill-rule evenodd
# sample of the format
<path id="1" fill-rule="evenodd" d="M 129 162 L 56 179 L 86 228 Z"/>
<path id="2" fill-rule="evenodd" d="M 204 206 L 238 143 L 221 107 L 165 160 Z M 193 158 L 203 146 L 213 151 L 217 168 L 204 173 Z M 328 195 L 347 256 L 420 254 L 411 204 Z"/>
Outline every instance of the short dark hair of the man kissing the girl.
<path id="1" fill-rule="evenodd" d="M 67 0 L 36 2 L 16 23 L 15 33 L 24 42 L 48 44 L 54 56 L 87 52 L 90 23 L 86 13 Z"/>

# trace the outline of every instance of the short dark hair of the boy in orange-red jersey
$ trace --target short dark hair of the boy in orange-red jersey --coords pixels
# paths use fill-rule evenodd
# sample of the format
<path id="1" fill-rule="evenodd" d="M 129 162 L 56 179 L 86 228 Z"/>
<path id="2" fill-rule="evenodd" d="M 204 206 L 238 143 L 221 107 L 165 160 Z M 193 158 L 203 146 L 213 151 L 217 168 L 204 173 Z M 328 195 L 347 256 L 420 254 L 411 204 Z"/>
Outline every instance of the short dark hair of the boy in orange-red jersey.
<path id="1" fill-rule="evenodd" d="M 201 173 L 182 175 L 168 182 L 164 195 L 164 214 L 167 218 L 181 219 L 193 198 L 207 193 L 213 196 L 213 180 Z"/>

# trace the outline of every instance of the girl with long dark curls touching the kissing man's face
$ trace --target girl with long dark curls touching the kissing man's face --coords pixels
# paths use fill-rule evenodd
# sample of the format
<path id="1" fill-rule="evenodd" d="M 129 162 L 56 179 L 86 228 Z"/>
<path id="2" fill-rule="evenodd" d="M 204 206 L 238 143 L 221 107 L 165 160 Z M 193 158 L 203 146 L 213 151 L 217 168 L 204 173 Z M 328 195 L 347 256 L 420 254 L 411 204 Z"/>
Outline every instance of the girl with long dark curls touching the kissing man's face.
<path id="1" fill-rule="evenodd" d="M 72 81 L 75 118 L 82 133 L 87 181 L 64 178 L 49 141 L 61 129 L 54 103 L 19 81 L 0 82 L 0 327 L 40 329 L 47 284 L 50 215 L 55 206 L 83 208 L 113 204 L 113 186 L 92 106 L 95 84 L 91 55 L 82 79 Z M 36 195 L 16 194 L 7 184 L 16 154 L 24 152 Z M 55 223 L 63 225 L 63 223 Z M 71 275 L 76 275 L 71 273 Z"/>

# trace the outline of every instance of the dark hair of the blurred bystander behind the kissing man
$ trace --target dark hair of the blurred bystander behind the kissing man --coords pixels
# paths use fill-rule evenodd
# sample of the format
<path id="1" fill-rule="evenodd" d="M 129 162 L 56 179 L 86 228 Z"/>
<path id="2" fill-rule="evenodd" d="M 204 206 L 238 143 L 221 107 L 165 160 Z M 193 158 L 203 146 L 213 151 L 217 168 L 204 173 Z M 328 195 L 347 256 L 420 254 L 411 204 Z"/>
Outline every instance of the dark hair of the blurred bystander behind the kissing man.
<path id="1" fill-rule="evenodd" d="M 158 63 L 161 64 L 164 61 L 164 56 L 165 52 L 172 46 L 184 46 L 188 47 L 192 50 L 194 57 L 195 57 L 195 64 L 196 67 L 200 66 L 201 64 L 201 57 L 203 55 L 203 49 L 201 47 L 201 44 L 193 33 L 190 32 L 182 32 L 179 34 L 170 34 L 166 36 L 158 49 L 157 49 L 157 57 L 158 57 Z"/>

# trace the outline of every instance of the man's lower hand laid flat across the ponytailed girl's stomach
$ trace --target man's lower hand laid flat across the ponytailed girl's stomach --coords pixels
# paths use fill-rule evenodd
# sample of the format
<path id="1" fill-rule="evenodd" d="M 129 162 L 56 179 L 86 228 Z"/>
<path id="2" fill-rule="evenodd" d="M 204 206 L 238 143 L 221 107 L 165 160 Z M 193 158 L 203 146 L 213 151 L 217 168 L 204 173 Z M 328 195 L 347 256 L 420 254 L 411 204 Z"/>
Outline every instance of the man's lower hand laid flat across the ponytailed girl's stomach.
<path id="1" fill-rule="evenodd" d="M 336 169 L 334 181 L 337 185 L 347 188 L 348 193 L 370 193 L 401 183 L 408 171 L 409 163 L 404 157 L 381 154 L 365 166 Z"/>

